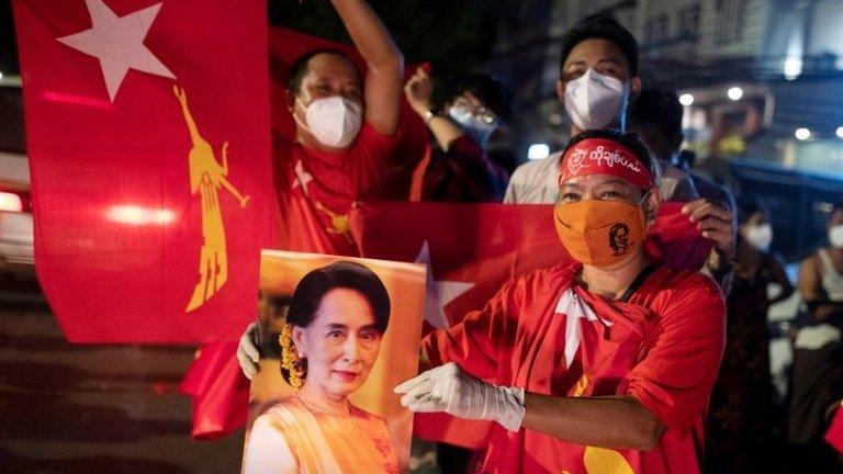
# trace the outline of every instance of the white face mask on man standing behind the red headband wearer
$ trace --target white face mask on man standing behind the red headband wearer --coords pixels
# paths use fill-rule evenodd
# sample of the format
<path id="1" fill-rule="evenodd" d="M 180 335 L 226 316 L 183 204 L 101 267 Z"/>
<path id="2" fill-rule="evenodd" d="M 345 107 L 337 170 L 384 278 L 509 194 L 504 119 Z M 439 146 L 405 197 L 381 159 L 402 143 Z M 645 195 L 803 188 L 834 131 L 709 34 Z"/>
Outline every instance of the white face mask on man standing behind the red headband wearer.
<path id="1" fill-rule="evenodd" d="M 565 111 L 582 129 L 609 126 L 627 102 L 623 82 L 588 69 L 565 84 Z"/>

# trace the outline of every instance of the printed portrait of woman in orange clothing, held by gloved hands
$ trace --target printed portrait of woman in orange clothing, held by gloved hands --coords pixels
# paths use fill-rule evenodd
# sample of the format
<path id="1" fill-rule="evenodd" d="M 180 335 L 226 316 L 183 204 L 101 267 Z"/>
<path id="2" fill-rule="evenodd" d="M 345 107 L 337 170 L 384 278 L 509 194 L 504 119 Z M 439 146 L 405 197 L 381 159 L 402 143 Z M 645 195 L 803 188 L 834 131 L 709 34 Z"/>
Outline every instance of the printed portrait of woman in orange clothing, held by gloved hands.
<path id="1" fill-rule="evenodd" d="M 263 250 L 243 473 L 407 471 L 425 266 Z"/>

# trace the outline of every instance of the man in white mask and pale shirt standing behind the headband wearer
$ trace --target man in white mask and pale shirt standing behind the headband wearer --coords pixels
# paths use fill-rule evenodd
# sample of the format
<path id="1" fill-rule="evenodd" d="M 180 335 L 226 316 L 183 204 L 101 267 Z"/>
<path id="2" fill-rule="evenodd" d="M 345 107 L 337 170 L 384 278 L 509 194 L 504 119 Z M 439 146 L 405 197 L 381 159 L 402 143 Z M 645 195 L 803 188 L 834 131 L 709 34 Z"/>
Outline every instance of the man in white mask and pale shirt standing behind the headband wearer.
<path id="1" fill-rule="evenodd" d="M 626 132 L 627 108 L 640 91 L 638 42 L 629 31 L 614 19 L 599 14 L 586 16 L 569 30 L 562 40 L 557 95 L 571 117 L 572 136 L 594 128 Z M 562 154 L 557 153 L 516 169 L 504 202 L 555 203 L 559 190 L 555 177 L 561 158 Z M 655 179 L 660 181 L 661 177 Z M 713 240 L 715 249 L 704 272 L 728 292 L 735 239 L 732 213 L 700 199 L 690 201 L 683 212 L 697 224 L 704 237 Z"/>

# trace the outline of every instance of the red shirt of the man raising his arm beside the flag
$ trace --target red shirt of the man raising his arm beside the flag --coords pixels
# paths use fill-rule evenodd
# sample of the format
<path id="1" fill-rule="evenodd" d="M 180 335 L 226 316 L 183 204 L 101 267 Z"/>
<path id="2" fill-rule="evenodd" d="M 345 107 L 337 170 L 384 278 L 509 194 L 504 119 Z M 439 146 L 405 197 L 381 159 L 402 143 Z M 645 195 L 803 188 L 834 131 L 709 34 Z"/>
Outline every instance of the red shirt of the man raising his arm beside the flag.
<path id="1" fill-rule="evenodd" d="M 342 256 L 359 253 L 348 226 L 356 201 L 386 190 L 387 159 L 398 138 L 363 124 L 340 153 L 307 148 L 283 138 L 276 146 L 278 248 Z"/>

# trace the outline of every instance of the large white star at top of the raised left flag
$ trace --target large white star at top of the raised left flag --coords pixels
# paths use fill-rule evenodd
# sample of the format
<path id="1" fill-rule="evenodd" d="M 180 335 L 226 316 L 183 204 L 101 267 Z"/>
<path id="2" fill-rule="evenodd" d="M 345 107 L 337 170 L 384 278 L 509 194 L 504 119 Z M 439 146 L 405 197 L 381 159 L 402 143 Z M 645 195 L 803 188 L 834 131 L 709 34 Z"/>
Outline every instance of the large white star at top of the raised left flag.
<path id="1" fill-rule="evenodd" d="M 86 0 L 85 3 L 91 15 L 92 27 L 56 40 L 100 60 L 102 77 L 105 79 L 112 102 L 130 69 L 176 79 L 167 66 L 144 45 L 146 33 L 161 3 L 125 16 L 114 14 L 102 0 Z"/>

